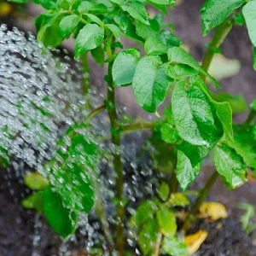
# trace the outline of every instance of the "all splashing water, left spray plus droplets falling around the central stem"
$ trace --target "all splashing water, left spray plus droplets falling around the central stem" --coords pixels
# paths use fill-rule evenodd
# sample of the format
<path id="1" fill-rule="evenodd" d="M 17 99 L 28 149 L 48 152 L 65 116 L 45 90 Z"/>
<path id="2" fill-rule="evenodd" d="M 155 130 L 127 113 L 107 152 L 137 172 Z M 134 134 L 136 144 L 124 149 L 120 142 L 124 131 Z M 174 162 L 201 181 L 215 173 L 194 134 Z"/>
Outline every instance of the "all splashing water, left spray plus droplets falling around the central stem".
<path id="1" fill-rule="evenodd" d="M 20 177 L 20 181 L 23 182 L 25 166 L 43 170 L 42 166 L 55 154 L 56 142 L 67 127 L 87 114 L 86 110 L 81 112 L 84 96 L 80 93 L 82 89 L 79 80 L 81 77 L 70 65 L 56 59 L 52 51 L 38 44 L 32 35 L 26 38 L 17 29 L 10 32 L 6 26 L 0 26 L 0 156 L 10 159 L 11 168 L 15 170 L 15 176 Z M 101 113 L 100 118 L 90 126 L 90 133 L 98 137 L 108 135 L 109 127 L 106 127 L 106 116 L 103 115 Z M 88 134 L 88 131 L 79 132 Z M 135 212 L 138 200 L 153 196 L 152 178 L 155 176 L 148 160 L 143 160 L 140 164 L 134 162 L 137 149 L 140 148 L 137 148 L 136 143 L 131 143 L 131 140 L 131 137 L 124 138 L 125 147 L 119 148 L 125 165 L 124 193 L 129 201 L 129 215 Z M 70 143 L 68 139 L 66 143 Z M 102 155 L 107 160 L 102 158 L 101 170 L 96 171 L 96 179 L 100 183 L 96 196 L 101 198 L 108 222 L 113 225 L 115 175 L 108 156 L 117 148 L 113 148 L 111 143 L 98 143 L 97 147 L 103 151 Z M 144 183 L 143 191 L 139 189 L 141 183 Z M 39 255 L 37 248 L 40 241 L 40 219 L 37 218 L 35 223 L 33 255 Z M 87 252 L 102 241 L 102 247 L 105 247 L 101 224 L 95 211 L 90 214 L 89 223 L 87 215 L 79 216 L 78 233 L 80 237 L 84 237 L 80 245 Z M 74 236 L 69 241 L 64 241 L 59 254 L 71 255 L 68 252 L 74 241 L 78 242 Z M 127 242 L 140 255 L 135 248 L 136 242 L 132 239 Z"/>

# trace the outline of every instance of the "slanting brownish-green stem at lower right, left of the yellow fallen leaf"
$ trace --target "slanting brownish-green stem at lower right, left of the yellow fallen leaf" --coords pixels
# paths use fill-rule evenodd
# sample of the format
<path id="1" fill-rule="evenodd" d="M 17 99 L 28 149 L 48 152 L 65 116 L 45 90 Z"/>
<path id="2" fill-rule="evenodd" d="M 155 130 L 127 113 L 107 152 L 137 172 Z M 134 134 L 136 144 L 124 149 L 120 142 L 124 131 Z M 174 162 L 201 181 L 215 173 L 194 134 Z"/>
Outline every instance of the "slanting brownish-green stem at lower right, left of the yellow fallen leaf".
<path id="1" fill-rule="evenodd" d="M 195 219 L 195 213 L 198 212 L 199 208 L 201 207 L 201 203 L 206 199 L 207 194 L 209 193 L 210 189 L 212 189 L 212 185 L 216 182 L 217 178 L 218 172 L 215 170 L 212 174 L 212 177 L 210 177 L 210 179 L 208 180 L 206 186 L 203 189 L 201 189 L 195 201 L 195 205 L 190 209 L 189 215 L 185 219 L 182 227 L 183 232 L 189 230 L 190 224 L 192 224 Z"/>

